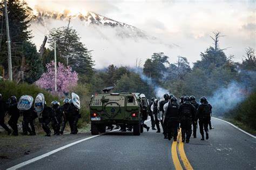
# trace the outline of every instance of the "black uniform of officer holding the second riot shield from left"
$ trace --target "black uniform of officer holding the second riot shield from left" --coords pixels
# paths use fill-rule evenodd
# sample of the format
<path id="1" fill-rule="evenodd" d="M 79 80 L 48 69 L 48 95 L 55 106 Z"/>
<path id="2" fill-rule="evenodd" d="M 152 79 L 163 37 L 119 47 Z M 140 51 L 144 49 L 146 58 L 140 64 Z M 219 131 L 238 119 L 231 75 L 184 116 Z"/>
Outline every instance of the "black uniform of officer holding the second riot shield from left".
<path id="1" fill-rule="evenodd" d="M 51 130 L 48 126 L 49 123 L 51 122 L 53 127 L 57 124 L 55 111 L 51 107 L 44 105 L 42 118 L 39 119 L 39 122 L 41 123 L 46 136 L 50 136 Z"/>

